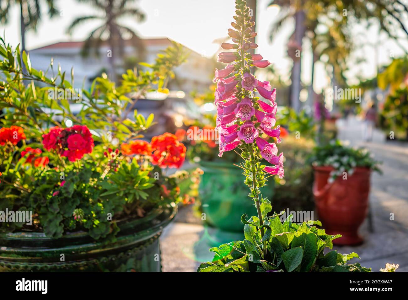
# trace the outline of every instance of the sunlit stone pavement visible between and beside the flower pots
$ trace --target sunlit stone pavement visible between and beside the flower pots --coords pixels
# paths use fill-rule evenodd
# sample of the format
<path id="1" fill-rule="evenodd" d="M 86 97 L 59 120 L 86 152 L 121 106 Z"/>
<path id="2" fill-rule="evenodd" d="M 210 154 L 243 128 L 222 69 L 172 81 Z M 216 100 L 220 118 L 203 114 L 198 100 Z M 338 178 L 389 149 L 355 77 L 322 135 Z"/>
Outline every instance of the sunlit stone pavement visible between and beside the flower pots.
<path id="1" fill-rule="evenodd" d="M 367 147 L 377 160 L 383 161 L 384 175 L 372 176 L 370 205 L 374 231 L 368 230 L 366 220 L 360 229 L 364 244 L 336 249 L 340 253 L 357 252 L 361 260 L 355 261 L 373 271 L 384 268 L 387 262 L 399 264 L 398 271 L 408 271 L 408 144 L 386 142 L 378 130 L 372 142 L 364 142 L 363 123 L 355 118 L 339 120 L 337 126 L 340 140 Z M 213 257 L 208 248 L 215 246 L 211 244 L 214 230 L 200 224 L 200 218 L 190 211 L 191 208 L 184 209 L 161 237 L 164 272 L 195 271 L 200 262 Z M 394 214 L 394 220 L 390 220 L 390 213 Z"/>

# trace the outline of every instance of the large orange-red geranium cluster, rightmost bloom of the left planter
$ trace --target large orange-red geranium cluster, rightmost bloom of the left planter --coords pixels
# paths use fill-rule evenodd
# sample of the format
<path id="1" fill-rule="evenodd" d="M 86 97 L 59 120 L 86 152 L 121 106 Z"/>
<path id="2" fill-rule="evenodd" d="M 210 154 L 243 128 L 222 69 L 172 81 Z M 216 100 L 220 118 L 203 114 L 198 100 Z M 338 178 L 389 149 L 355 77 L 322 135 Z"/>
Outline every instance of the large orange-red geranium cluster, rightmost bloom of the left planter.
<path id="1" fill-rule="evenodd" d="M 153 164 L 160 167 L 180 168 L 186 158 L 186 147 L 177 140 L 177 136 L 164 133 L 151 140 Z"/>

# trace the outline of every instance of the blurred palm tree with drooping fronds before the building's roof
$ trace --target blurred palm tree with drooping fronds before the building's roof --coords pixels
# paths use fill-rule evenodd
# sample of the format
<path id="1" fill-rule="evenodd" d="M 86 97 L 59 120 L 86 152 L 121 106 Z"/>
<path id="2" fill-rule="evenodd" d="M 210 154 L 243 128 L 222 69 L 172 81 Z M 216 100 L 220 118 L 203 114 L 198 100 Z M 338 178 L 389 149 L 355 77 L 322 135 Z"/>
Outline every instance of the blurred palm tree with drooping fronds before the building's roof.
<path id="1" fill-rule="evenodd" d="M 91 4 L 96 11 L 96 13 L 89 16 L 80 16 L 73 20 L 67 32 L 72 34 L 73 30 L 80 24 L 87 22 L 89 20 L 100 20 L 102 24 L 95 28 L 89 34 L 87 40 L 82 48 L 82 55 L 89 55 L 89 50 L 94 49 L 97 54 L 99 54 L 98 49 L 104 41 L 107 41 L 109 48 L 112 51 L 111 56 L 109 56 L 109 63 L 111 65 L 111 77 L 115 77 L 115 61 L 122 61 L 123 50 L 124 50 L 124 36 L 130 36 L 136 49 L 139 50 L 140 54 L 143 53 L 144 47 L 142 40 L 137 37 L 137 34 L 133 29 L 125 25 L 119 24 L 118 20 L 121 17 L 132 17 L 135 18 L 137 22 L 144 20 L 144 13 L 140 11 L 139 8 L 135 7 L 134 4 L 137 0 L 78 0 L 79 2 L 87 2 Z"/>

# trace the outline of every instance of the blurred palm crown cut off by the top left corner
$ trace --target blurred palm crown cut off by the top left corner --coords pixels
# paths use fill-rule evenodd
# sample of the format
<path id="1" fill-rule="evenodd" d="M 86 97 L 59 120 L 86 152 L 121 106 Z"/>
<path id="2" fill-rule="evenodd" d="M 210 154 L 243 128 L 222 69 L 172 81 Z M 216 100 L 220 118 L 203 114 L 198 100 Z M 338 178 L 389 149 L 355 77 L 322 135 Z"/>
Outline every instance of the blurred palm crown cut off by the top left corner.
<path id="1" fill-rule="evenodd" d="M 54 0 L 46 0 L 50 18 L 58 13 L 54 6 Z M 13 5 L 20 7 L 21 26 L 21 49 L 25 51 L 25 33 L 29 29 L 37 30 L 38 22 L 41 20 L 40 0 L 0 0 L 0 23 L 9 21 L 10 9 Z"/>

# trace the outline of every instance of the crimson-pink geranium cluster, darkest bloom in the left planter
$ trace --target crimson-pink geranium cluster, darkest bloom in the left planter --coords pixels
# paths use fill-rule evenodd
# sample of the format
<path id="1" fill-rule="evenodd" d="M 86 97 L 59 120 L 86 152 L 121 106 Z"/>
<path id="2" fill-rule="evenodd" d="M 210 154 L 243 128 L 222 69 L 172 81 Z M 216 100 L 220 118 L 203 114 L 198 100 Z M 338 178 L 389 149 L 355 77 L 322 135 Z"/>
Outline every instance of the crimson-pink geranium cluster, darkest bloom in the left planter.
<path id="1" fill-rule="evenodd" d="M 71 162 L 83 158 L 86 153 L 91 153 L 94 147 L 91 132 L 88 127 L 81 125 L 65 129 L 53 127 L 49 133 L 43 134 L 42 138 L 45 149 L 57 150 Z"/>

